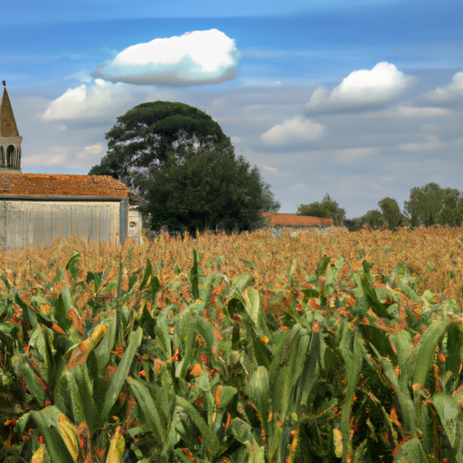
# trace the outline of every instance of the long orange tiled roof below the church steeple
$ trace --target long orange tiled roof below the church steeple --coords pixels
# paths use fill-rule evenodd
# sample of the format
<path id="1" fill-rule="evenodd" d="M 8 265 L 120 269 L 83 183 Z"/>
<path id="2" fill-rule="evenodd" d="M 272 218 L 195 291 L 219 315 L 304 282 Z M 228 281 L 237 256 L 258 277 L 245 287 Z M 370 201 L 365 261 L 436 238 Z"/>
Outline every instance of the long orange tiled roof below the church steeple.
<path id="1" fill-rule="evenodd" d="M 109 175 L 0 174 L 0 197 L 81 196 L 127 198 L 128 187 Z"/>

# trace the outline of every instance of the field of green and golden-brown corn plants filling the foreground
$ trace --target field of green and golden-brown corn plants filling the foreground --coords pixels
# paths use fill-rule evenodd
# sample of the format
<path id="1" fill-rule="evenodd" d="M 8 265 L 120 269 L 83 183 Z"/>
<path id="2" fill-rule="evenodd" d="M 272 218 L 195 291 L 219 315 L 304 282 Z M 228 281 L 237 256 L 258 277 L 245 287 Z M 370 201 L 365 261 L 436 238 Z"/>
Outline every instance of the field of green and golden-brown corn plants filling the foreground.
<path id="1" fill-rule="evenodd" d="M 463 462 L 463 230 L 0 260 L 0 460 Z"/>

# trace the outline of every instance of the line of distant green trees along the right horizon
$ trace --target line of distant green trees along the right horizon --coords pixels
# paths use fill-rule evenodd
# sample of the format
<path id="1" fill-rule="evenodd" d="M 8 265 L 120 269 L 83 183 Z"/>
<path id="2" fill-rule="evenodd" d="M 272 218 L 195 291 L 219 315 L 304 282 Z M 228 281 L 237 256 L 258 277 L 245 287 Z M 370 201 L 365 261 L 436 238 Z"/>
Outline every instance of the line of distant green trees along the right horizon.
<path id="1" fill-rule="evenodd" d="M 378 202 L 378 208 L 354 219 L 345 218 L 345 209 L 329 194 L 322 201 L 301 204 L 298 213 L 331 218 L 335 225 L 344 224 L 350 231 L 369 225 L 373 230 L 397 230 L 399 227 L 430 227 L 432 225 L 460 226 L 463 222 L 463 193 L 456 188 L 442 188 L 430 183 L 411 188 L 410 198 L 401 209 L 389 196 Z"/>

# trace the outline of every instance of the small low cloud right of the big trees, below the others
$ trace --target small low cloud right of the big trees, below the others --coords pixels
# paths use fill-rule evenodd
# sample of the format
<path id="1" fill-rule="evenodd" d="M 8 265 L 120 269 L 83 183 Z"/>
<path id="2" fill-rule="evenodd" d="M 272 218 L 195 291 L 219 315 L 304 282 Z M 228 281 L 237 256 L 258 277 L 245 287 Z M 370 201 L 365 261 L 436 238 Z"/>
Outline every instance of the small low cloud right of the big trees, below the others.
<path id="1" fill-rule="evenodd" d="M 325 130 L 325 126 L 314 120 L 297 116 L 270 128 L 260 136 L 260 139 L 269 146 L 283 148 L 305 146 L 321 138 Z"/>

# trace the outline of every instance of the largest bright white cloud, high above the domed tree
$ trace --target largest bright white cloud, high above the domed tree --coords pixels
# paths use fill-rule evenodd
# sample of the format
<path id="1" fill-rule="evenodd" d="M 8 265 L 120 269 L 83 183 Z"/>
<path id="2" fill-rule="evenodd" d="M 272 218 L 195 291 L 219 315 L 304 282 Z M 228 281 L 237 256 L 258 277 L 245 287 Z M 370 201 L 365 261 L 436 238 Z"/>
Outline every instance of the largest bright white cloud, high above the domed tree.
<path id="1" fill-rule="evenodd" d="M 137 43 L 100 64 L 95 77 L 136 85 L 188 87 L 233 80 L 239 53 L 217 29 Z"/>

